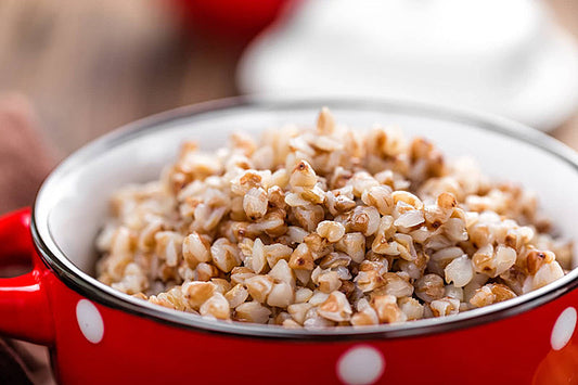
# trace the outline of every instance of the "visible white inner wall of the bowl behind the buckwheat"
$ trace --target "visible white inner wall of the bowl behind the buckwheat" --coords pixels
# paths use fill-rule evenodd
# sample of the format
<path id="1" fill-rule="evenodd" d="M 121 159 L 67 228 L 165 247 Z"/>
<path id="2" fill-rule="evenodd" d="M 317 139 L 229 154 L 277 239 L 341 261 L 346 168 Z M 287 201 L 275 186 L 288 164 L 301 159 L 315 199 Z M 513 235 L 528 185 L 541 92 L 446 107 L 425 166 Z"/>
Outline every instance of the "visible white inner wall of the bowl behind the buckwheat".
<path id="1" fill-rule="evenodd" d="M 490 177 L 536 191 L 560 233 L 578 240 L 578 205 L 573 203 L 578 196 L 578 172 L 568 159 L 574 152 L 565 146 L 500 119 L 411 103 L 344 101 L 249 103 L 192 115 L 177 112 L 160 121 L 153 118 L 113 132 L 73 154 L 44 182 L 35 206 L 38 234 L 56 258 L 67 258 L 73 268 L 92 274 L 94 238 L 108 215 L 113 191 L 157 179 L 185 139 L 210 151 L 223 145 L 235 130 L 258 134 L 285 124 L 311 126 L 322 105 L 332 110 L 339 124 L 360 129 L 376 123 L 397 125 L 407 137 L 431 139 L 448 158 L 474 157 Z"/>

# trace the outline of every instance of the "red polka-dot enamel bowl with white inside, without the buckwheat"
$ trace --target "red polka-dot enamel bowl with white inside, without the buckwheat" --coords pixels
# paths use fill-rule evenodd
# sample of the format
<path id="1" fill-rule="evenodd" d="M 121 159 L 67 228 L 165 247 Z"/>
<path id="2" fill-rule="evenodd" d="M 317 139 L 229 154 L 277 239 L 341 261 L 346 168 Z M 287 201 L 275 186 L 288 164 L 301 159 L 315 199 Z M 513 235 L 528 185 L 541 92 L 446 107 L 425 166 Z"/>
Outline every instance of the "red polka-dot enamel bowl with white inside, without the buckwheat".
<path id="1" fill-rule="evenodd" d="M 0 279 L 0 331 L 50 347 L 62 383 L 555 384 L 578 381 L 578 270 L 514 299 L 397 325 L 288 330 L 210 321 L 136 299 L 91 277 L 93 240 L 110 193 L 156 178 L 184 138 L 204 147 L 227 132 L 337 120 L 423 133 L 450 156 L 536 190 L 578 239 L 578 155 L 501 118 L 400 101 L 229 100 L 180 108 L 105 136 L 64 161 L 28 209 L 0 219 L 2 262 L 31 272 Z M 555 172 L 554 172 L 555 171 Z M 31 221 L 30 221 L 31 218 Z"/>

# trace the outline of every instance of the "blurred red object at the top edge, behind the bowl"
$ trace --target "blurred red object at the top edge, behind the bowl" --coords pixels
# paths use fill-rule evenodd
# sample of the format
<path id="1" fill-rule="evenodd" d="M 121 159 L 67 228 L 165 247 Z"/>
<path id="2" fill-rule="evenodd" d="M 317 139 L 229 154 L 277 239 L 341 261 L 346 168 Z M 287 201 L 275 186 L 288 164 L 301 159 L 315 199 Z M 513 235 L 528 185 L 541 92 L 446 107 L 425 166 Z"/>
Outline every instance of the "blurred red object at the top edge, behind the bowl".
<path id="1" fill-rule="evenodd" d="M 291 0 L 172 0 L 187 27 L 203 35 L 248 41 Z"/>

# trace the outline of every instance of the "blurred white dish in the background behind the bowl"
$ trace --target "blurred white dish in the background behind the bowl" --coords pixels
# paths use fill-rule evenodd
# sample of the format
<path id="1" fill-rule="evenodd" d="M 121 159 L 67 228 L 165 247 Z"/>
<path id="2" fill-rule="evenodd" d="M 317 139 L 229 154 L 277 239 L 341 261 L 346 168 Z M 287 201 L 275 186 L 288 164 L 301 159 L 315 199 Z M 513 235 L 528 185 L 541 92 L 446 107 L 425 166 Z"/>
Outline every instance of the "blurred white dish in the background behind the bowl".
<path id="1" fill-rule="evenodd" d="M 578 106 L 578 48 L 538 1 L 308 0 L 258 37 L 246 93 L 400 97 L 549 130 Z"/>

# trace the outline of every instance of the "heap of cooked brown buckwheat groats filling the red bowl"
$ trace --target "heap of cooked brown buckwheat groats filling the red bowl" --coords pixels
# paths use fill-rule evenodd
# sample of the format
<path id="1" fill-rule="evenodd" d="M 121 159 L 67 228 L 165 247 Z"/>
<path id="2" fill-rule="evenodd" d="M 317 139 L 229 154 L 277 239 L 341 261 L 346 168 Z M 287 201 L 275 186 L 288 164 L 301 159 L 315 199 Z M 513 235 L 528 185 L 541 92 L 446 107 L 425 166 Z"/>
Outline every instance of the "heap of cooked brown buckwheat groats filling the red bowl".
<path id="1" fill-rule="evenodd" d="M 362 328 L 489 306 L 571 268 L 535 194 L 396 127 L 338 125 L 185 142 L 111 197 L 98 278 L 193 317 Z M 229 321 L 230 322 L 230 321 Z"/>

